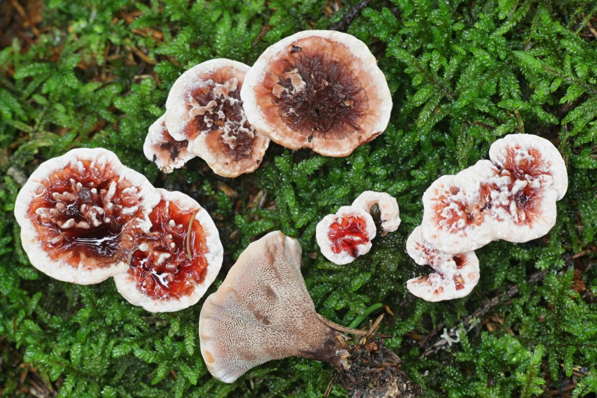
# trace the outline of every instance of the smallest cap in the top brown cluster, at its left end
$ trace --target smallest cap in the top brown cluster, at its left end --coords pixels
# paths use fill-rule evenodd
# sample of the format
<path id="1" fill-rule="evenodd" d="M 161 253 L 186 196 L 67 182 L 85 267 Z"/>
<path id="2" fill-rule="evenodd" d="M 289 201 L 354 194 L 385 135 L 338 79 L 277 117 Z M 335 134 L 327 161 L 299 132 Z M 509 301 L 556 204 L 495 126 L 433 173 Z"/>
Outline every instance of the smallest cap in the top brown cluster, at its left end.
<path id="1" fill-rule="evenodd" d="M 187 140 L 177 141 L 172 138 L 165 124 L 166 115 L 162 115 L 149 127 L 143 153 L 148 161 L 154 162 L 158 168 L 165 172 L 172 172 L 180 168 L 195 155 L 189 152 Z"/>

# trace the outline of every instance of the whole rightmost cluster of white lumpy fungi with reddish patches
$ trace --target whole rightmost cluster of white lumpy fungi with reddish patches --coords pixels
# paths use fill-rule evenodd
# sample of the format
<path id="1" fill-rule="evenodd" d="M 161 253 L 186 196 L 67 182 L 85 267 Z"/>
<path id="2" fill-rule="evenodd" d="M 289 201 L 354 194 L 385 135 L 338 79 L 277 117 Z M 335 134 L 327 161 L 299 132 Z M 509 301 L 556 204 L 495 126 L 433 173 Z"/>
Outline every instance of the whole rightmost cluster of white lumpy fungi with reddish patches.
<path id="1" fill-rule="evenodd" d="M 435 273 L 408 280 L 427 301 L 464 297 L 479 281 L 474 250 L 493 240 L 528 242 L 556 222 L 568 174 L 552 143 L 537 135 L 510 134 L 495 141 L 491 160 L 444 175 L 423 195 L 423 221 L 407 240 L 408 254 Z"/>

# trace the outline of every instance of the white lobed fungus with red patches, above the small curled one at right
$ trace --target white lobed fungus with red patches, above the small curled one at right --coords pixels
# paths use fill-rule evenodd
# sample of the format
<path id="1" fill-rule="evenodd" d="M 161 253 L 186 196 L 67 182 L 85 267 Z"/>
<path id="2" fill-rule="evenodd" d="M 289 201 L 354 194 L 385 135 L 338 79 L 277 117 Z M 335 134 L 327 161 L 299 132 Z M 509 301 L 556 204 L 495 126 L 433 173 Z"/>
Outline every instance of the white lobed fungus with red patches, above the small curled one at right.
<path id="1" fill-rule="evenodd" d="M 423 237 L 439 250 L 527 242 L 555 224 L 556 200 L 568 186 L 558 150 L 536 135 L 510 134 L 492 144 L 490 158 L 438 178 L 424 193 Z"/>

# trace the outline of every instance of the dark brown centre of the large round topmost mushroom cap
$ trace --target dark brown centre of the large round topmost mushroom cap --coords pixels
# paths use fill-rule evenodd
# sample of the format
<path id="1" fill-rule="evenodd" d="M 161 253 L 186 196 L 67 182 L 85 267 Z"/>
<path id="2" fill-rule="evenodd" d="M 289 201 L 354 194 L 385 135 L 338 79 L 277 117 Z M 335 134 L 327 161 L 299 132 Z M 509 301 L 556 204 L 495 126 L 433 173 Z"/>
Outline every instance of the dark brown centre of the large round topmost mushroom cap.
<path id="1" fill-rule="evenodd" d="M 292 57 L 272 89 L 282 119 L 313 137 L 343 138 L 359 130 L 367 95 L 358 78 L 330 54 L 307 54 L 292 46 Z"/>

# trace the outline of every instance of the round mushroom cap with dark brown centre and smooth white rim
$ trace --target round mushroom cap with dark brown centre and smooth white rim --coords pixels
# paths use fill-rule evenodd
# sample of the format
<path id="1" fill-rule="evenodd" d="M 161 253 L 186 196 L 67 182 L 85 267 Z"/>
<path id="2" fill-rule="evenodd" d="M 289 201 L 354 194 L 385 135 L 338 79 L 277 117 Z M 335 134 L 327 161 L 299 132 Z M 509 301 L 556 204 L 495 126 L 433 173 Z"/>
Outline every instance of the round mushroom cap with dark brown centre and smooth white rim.
<path id="1" fill-rule="evenodd" d="M 392 110 L 367 45 L 334 30 L 306 30 L 271 45 L 247 72 L 241 98 L 261 134 L 337 157 L 381 134 Z"/>

